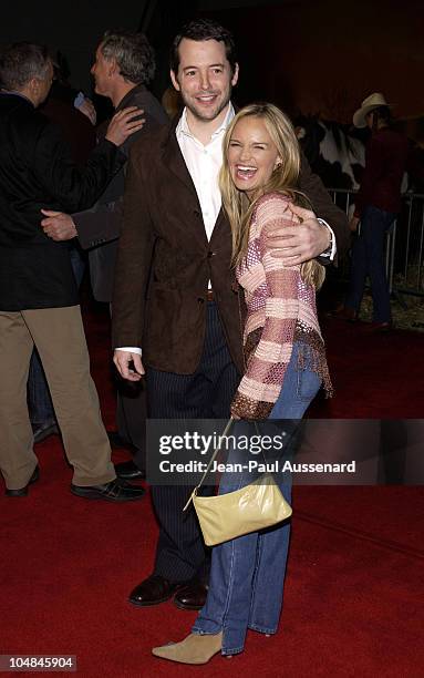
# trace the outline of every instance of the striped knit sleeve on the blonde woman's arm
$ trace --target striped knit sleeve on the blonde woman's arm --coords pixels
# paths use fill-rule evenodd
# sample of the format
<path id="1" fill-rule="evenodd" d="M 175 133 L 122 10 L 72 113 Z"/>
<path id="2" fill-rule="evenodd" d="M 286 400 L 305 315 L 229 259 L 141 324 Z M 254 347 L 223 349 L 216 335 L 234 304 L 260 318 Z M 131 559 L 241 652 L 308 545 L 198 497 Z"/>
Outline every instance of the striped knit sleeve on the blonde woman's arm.
<path id="1" fill-rule="evenodd" d="M 265 323 L 231 404 L 231 413 L 242 419 L 266 419 L 269 415 L 290 362 L 299 317 L 300 266 L 283 266 L 272 257 L 266 238 L 270 227 L 277 224 L 279 227 L 292 226 L 294 218 L 283 196 L 266 196 L 257 208 L 256 246 L 266 276 Z M 248 343 L 249 340 L 255 341 L 247 336 L 245 341 Z"/>

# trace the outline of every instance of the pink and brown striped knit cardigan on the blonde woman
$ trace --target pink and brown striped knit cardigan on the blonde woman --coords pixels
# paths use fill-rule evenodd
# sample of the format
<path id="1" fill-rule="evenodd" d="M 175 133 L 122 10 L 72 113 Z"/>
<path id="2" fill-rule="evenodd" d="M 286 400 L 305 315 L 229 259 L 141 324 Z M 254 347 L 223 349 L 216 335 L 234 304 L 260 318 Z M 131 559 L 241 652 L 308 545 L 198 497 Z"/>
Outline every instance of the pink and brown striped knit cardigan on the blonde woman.
<path id="1" fill-rule="evenodd" d="M 258 201 L 250 223 L 248 250 L 236 271 L 247 304 L 246 373 L 232 401 L 231 413 L 242 419 L 266 419 L 270 414 L 280 394 L 294 342 L 299 345 L 298 369 L 317 372 L 327 394 L 332 394 L 317 318 L 316 290 L 303 282 L 300 265 L 285 266 L 266 247 L 271 226 L 299 223 L 289 203 L 290 199 L 280 193 L 265 195 Z"/>

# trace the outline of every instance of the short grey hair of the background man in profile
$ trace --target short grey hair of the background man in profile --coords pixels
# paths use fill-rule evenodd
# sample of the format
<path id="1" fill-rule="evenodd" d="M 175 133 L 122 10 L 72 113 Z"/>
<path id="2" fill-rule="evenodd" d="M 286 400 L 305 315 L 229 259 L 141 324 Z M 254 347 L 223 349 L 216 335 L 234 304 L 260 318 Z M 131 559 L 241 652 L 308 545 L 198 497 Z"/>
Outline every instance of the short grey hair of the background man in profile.
<path id="1" fill-rule="evenodd" d="M 130 82 L 146 84 L 155 74 L 155 53 L 144 33 L 106 31 L 101 52 L 105 59 L 116 60 L 121 75 Z"/>

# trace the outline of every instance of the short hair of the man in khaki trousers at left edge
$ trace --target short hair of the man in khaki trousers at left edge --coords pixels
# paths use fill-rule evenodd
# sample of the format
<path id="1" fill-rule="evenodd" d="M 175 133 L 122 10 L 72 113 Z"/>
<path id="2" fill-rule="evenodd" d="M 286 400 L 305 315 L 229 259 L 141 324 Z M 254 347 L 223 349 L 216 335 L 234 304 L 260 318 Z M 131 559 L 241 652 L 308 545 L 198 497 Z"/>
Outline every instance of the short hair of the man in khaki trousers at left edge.
<path id="1" fill-rule="evenodd" d="M 33 78 L 44 80 L 52 58 L 43 44 L 14 42 L 0 51 L 0 85 L 4 90 L 21 90 Z"/>

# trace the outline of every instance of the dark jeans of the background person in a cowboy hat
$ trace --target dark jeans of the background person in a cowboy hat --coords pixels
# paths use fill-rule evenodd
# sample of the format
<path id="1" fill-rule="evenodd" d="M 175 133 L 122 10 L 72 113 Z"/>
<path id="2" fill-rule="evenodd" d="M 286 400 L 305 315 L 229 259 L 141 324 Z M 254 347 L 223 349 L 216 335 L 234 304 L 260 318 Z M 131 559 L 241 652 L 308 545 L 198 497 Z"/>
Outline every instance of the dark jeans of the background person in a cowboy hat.
<path id="1" fill-rule="evenodd" d="M 370 276 L 374 322 L 390 322 L 390 291 L 384 265 L 384 246 L 395 214 L 372 205 L 364 209 L 360 235 L 352 249 L 352 269 L 345 305 L 359 310 Z"/>

